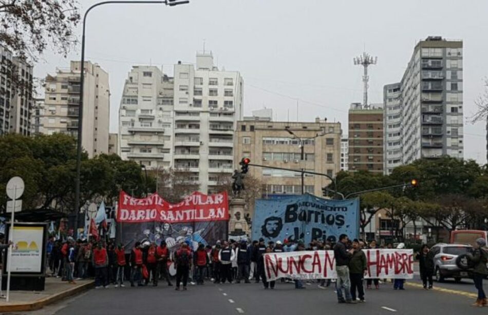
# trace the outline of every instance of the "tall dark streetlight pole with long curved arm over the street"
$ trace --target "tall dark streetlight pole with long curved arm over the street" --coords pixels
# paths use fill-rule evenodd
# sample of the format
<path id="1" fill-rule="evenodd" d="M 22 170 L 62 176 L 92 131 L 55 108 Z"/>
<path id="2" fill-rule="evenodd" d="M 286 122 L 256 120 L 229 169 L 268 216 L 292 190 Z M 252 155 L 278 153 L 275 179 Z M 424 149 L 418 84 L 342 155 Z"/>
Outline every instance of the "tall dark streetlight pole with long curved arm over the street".
<path id="1" fill-rule="evenodd" d="M 80 173 L 81 173 L 81 153 L 82 153 L 82 133 L 83 133 L 83 86 L 85 79 L 85 30 L 86 30 L 86 17 L 91 9 L 108 4 L 164 4 L 166 6 L 174 7 L 177 5 L 187 4 L 190 1 L 180 1 L 180 0 L 166 0 L 166 1 L 104 1 L 99 2 L 86 10 L 83 16 L 83 35 L 81 38 L 81 64 L 80 64 L 80 105 L 78 112 L 78 141 L 77 141 L 77 159 L 76 159 L 76 188 L 74 195 L 74 211 L 76 211 L 75 225 L 78 228 L 78 214 L 80 212 Z"/>

